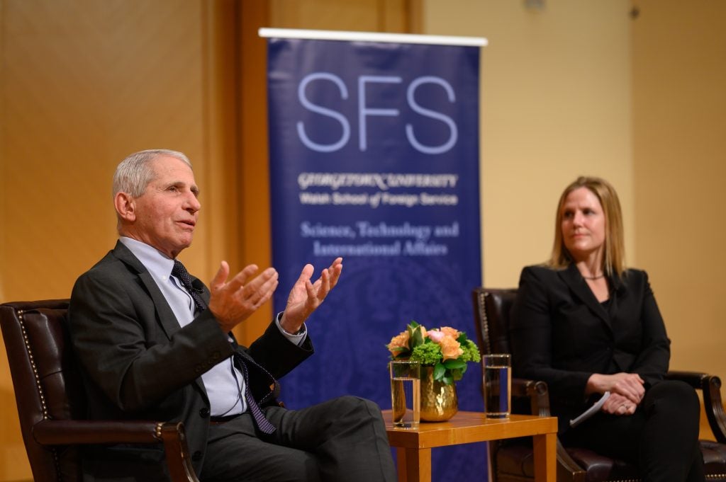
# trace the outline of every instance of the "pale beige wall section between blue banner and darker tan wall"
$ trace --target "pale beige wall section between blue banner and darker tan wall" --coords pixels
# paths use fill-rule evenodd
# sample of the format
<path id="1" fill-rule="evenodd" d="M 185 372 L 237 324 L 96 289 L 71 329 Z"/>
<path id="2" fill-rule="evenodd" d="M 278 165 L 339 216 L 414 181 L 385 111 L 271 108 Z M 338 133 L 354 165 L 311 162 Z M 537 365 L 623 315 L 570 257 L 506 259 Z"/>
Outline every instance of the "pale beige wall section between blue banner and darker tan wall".
<path id="1" fill-rule="evenodd" d="M 578 175 L 600 175 L 624 206 L 634 257 L 627 0 L 424 3 L 425 33 L 483 36 L 484 283 L 516 286 L 552 249 L 555 207 Z M 456 14 L 452 14 L 456 12 Z"/>

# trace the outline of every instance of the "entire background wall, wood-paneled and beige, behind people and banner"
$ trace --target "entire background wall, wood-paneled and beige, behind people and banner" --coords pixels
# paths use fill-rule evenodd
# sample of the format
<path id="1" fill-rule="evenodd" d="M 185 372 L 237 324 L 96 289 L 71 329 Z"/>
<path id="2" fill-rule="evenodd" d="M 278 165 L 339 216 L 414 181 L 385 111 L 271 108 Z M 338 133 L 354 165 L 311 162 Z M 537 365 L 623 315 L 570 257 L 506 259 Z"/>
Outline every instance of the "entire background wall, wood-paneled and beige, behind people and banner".
<path id="1" fill-rule="evenodd" d="M 726 7 L 641 0 L 634 21 L 626 0 L 544 4 L 0 0 L 0 302 L 68 296 L 113 245 L 113 168 L 150 146 L 195 162 L 192 272 L 269 263 L 259 26 L 484 36 L 486 285 L 515 286 L 547 257 L 563 186 L 602 175 L 621 195 L 628 259 L 651 275 L 674 366 L 726 375 Z M 0 481 L 29 478 L 2 355 L 0 427 Z"/>

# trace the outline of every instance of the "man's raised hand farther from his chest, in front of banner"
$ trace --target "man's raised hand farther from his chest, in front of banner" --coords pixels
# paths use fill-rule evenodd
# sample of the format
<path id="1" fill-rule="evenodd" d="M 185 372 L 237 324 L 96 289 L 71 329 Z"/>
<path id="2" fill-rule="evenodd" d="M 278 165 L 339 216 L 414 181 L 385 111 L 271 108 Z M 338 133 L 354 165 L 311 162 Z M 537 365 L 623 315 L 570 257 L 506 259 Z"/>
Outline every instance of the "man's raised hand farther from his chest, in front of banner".
<path id="1" fill-rule="evenodd" d="M 295 281 L 290 296 L 287 296 L 287 306 L 282 313 L 280 325 L 287 333 L 297 333 L 305 320 L 320 306 L 330 290 L 338 284 L 338 278 L 343 271 L 343 258 L 336 258 L 333 264 L 322 270 L 320 278 L 311 283 L 313 265 L 305 265 L 300 278 Z"/>

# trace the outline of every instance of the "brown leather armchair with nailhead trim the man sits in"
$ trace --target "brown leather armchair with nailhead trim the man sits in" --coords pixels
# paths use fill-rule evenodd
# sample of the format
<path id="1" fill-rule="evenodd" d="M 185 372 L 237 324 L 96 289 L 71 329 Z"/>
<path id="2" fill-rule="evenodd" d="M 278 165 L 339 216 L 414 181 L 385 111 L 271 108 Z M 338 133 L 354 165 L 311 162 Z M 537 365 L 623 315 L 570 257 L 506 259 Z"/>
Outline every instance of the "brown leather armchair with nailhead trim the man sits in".
<path id="1" fill-rule="evenodd" d="M 73 359 L 67 315 L 68 299 L 0 305 L 33 480 L 80 481 L 81 445 L 163 444 L 171 480 L 198 482 L 181 423 L 84 419 L 86 394 Z"/>

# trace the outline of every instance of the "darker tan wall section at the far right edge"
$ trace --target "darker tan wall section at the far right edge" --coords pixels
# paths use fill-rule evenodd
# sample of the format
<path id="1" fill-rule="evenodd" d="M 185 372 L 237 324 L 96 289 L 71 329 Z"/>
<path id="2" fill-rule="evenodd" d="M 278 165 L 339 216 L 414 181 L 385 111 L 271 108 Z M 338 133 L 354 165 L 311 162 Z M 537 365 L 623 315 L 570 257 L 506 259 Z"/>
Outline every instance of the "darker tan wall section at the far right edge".
<path id="1" fill-rule="evenodd" d="M 633 22 L 637 262 L 672 367 L 726 377 L 726 4 L 638 1 Z"/>

